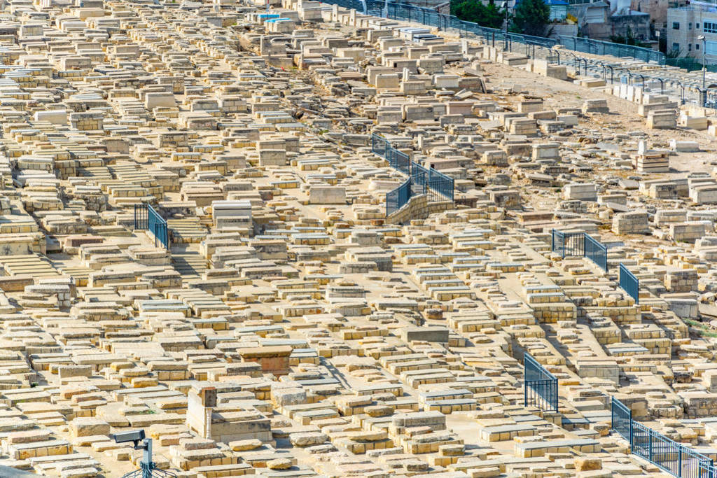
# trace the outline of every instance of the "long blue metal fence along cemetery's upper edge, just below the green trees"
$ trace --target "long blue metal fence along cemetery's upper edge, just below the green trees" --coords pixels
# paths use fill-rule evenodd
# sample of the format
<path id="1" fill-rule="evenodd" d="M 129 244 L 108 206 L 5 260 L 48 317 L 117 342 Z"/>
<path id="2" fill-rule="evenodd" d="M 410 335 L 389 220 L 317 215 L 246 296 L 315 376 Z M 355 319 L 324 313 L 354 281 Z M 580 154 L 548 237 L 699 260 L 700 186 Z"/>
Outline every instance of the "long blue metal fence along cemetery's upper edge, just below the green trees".
<path id="1" fill-rule="evenodd" d="M 399 21 L 414 21 L 440 30 L 453 30 L 461 36 L 470 34 L 476 35 L 487 43 L 493 44 L 502 42 L 508 50 L 513 52 L 514 46 L 518 52 L 528 54 L 526 45 L 538 45 L 551 48 L 556 44 L 563 45 L 564 49 L 571 49 L 576 52 L 612 55 L 614 57 L 632 57 L 641 59 L 644 62 L 665 64 L 665 54 L 655 52 L 650 48 L 635 47 L 612 42 L 602 42 L 581 37 L 569 37 L 559 35 L 558 39 L 546 37 L 532 37 L 516 33 L 505 33 L 503 30 L 481 27 L 473 21 L 463 21 L 457 16 L 438 13 L 435 10 L 413 6 L 409 4 L 397 4 L 392 2 L 376 0 L 323 0 L 327 4 L 336 4 L 344 8 L 362 11 L 364 14 L 375 16 L 386 16 L 386 18 Z"/>

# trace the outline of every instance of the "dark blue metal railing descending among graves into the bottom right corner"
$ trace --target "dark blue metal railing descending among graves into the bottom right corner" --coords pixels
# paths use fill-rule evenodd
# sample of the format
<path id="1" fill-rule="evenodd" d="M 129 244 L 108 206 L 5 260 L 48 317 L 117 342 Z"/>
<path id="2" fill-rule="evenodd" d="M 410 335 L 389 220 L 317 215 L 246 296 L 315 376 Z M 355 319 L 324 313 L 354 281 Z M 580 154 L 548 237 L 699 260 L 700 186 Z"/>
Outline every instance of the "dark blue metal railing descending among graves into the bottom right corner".
<path id="1" fill-rule="evenodd" d="M 612 429 L 630 443 L 633 454 L 678 478 L 717 478 L 710 457 L 632 420 L 632 411 L 612 398 Z"/>

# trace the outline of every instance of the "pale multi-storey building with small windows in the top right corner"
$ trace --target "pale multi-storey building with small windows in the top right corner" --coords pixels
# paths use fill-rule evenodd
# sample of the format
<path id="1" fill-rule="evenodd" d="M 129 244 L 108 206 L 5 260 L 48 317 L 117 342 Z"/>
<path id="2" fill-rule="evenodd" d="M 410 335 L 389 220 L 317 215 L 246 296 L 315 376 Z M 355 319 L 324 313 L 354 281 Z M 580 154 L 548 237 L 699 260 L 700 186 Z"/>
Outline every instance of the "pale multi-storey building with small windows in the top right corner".
<path id="1" fill-rule="evenodd" d="M 717 4 L 692 2 L 668 9 L 668 52 L 701 60 L 703 42 L 698 39 L 701 35 L 705 37 L 706 63 L 717 63 Z"/>

